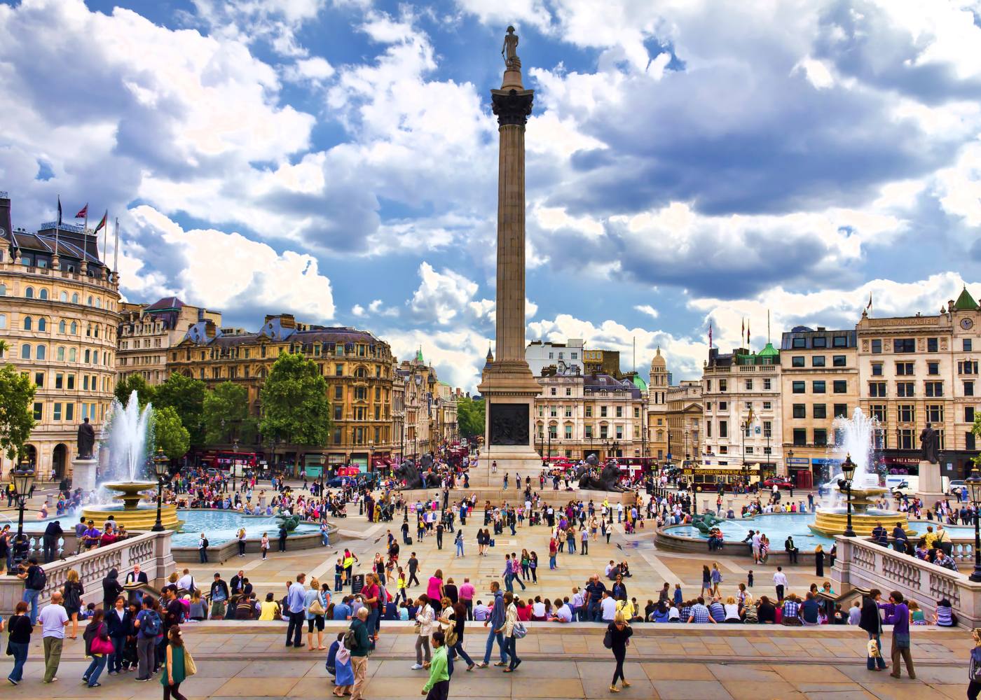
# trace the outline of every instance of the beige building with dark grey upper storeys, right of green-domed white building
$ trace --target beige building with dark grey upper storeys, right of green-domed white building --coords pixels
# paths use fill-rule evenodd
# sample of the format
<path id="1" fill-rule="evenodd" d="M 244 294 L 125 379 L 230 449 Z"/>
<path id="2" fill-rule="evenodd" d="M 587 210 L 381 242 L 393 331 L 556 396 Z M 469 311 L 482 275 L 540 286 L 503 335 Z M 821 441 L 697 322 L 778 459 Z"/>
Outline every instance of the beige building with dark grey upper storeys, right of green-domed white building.
<path id="1" fill-rule="evenodd" d="M 827 481 L 840 460 L 835 420 L 858 405 L 854 330 L 798 325 L 780 343 L 782 444 L 788 475 L 800 486 Z"/>

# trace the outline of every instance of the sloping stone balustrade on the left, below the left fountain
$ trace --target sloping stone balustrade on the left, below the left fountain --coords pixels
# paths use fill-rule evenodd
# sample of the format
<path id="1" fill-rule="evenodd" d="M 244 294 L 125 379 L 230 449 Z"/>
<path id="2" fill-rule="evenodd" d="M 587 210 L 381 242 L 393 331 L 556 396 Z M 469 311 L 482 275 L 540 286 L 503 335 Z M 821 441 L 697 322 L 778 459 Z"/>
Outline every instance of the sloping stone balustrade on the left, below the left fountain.
<path id="1" fill-rule="evenodd" d="M 40 556 L 37 559 L 42 561 Z M 110 570 L 116 569 L 119 572 L 122 583 L 135 564 L 146 573 L 151 584 L 161 585 L 176 568 L 171 553 L 170 530 L 142 532 L 122 542 L 114 542 L 105 547 L 42 565 L 47 575 L 47 584 L 41 592 L 39 602 L 41 604 L 49 602 L 51 594 L 65 584 L 69 571 L 75 569 L 85 591 L 82 595 L 82 603 L 99 603 L 102 601 L 102 579 Z M 23 595 L 22 579 L 13 575 L 0 576 L 0 614 L 7 616 L 13 613 L 14 606 Z"/>

